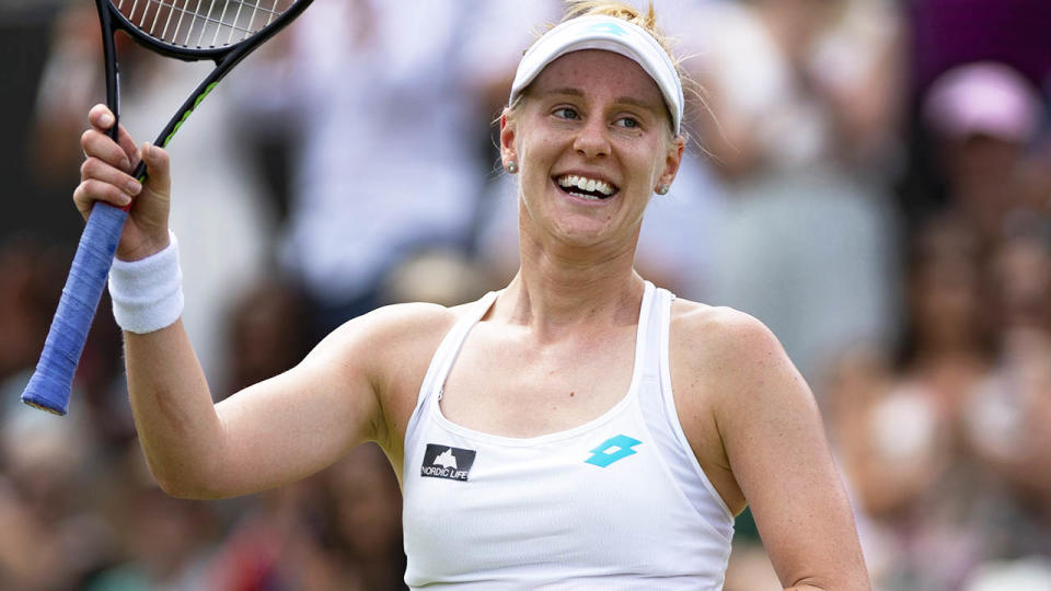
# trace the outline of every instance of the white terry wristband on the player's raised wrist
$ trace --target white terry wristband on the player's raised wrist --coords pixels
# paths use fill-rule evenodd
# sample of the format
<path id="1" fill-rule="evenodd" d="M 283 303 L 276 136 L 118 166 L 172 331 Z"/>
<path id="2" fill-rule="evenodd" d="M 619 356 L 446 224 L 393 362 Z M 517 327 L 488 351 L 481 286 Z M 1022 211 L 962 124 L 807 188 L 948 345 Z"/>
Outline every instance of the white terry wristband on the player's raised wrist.
<path id="1" fill-rule="evenodd" d="M 140 260 L 113 259 L 109 297 L 113 317 L 129 333 L 145 334 L 171 326 L 183 314 L 183 271 L 178 241 Z"/>

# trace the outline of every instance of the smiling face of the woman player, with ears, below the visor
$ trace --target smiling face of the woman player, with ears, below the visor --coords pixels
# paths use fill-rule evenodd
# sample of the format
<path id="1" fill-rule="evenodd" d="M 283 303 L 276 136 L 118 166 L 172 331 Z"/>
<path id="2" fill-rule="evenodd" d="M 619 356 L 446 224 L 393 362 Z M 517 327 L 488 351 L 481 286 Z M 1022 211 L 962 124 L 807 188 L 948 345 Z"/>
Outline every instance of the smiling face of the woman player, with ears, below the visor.
<path id="1" fill-rule="evenodd" d="M 501 121 L 504 161 L 520 170 L 527 232 L 577 245 L 631 244 L 655 188 L 671 184 L 684 141 L 671 138 L 657 84 L 602 50 L 548 65 Z"/>

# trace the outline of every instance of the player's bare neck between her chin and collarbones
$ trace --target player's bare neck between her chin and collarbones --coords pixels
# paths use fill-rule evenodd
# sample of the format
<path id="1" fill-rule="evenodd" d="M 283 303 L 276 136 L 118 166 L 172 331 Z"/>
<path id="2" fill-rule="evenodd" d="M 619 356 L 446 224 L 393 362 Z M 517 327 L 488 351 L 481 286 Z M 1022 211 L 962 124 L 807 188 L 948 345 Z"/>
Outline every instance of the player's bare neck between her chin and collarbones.
<path id="1" fill-rule="evenodd" d="M 520 232 L 521 268 L 505 290 L 503 314 L 543 339 L 569 328 L 638 322 L 643 278 L 628 244 L 578 247 Z"/>

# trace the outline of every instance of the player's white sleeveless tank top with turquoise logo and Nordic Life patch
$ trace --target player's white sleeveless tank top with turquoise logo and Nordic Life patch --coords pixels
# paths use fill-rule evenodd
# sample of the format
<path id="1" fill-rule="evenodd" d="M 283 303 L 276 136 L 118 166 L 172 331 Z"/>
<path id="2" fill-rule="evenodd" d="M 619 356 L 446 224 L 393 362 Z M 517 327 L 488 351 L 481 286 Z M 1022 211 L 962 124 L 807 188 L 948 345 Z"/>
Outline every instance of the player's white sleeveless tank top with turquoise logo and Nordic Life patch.
<path id="1" fill-rule="evenodd" d="M 449 332 L 405 431 L 413 589 L 721 589 L 734 515 L 682 432 L 668 372 L 671 301 L 646 282 L 625 396 L 529 439 L 451 422 L 438 405 L 489 293 Z M 494 384 L 499 387 L 499 384 Z"/>

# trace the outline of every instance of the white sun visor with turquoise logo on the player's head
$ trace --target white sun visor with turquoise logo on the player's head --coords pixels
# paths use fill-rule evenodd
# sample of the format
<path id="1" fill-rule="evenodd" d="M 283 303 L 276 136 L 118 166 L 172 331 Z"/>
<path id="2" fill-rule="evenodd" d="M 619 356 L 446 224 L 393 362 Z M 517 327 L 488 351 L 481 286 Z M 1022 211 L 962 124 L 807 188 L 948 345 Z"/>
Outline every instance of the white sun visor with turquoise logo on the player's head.
<path id="1" fill-rule="evenodd" d="M 679 134 L 683 96 L 682 81 L 679 79 L 679 72 L 675 71 L 674 62 L 646 30 L 613 16 L 579 16 L 544 33 L 518 63 L 508 104 L 513 104 L 515 99 L 548 63 L 566 54 L 582 49 L 613 51 L 642 66 L 665 96 L 668 112 L 671 113 L 671 126 L 675 134 Z"/>

